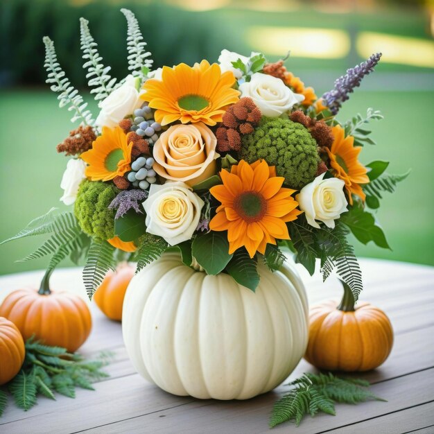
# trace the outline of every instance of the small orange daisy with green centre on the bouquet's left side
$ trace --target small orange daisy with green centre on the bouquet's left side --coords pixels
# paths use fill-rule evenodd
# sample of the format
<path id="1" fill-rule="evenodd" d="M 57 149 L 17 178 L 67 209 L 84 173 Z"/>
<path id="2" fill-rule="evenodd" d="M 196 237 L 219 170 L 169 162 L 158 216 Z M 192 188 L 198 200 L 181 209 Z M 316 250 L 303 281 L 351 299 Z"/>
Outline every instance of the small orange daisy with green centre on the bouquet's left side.
<path id="1" fill-rule="evenodd" d="M 120 127 L 103 127 L 103 134 L 97 137 L 92 149 L 80 155 L 89 166 L 85 175 L 92 181 L 108 181 L 131 169 L 132 142 Z"/>

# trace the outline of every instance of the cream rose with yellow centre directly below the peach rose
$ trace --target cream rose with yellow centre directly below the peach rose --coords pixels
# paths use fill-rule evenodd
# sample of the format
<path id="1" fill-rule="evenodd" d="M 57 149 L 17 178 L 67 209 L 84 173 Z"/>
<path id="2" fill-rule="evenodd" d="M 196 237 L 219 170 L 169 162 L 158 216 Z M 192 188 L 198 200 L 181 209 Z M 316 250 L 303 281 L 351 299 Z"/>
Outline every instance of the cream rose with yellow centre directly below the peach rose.
<path id="1" fill-rule="evenodd" d="M 193 236 L 204 202 L 184 182 L 166 182 L 152 184 L 142 205 L 146 212 L 146 232 L 176 245 Z"/>

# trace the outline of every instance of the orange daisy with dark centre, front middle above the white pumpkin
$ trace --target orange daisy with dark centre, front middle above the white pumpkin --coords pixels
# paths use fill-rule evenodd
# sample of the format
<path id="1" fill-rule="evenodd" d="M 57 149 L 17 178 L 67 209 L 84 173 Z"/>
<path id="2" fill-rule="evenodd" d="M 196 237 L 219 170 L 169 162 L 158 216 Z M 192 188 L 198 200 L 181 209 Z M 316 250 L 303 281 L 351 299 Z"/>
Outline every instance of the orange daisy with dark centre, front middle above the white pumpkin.
<path id="1" fill-rule="evenodd" d="M 301 211 L 291 197 L 292 189 L 282 188 L 285 178 L 276 176 L 274 166 L 265 160 L 248 164 L 244 160 L 232 166 L 231 173 L 220 172 L 223 184 L 210 189 L 221 202 L 209 222 L 213 231 L 227 230 L 229 253 L 245 247 L 250 255 L 265 253 L 267 243 L 276 238 L 289 240 L 286 222 L 295 220 Z"/>

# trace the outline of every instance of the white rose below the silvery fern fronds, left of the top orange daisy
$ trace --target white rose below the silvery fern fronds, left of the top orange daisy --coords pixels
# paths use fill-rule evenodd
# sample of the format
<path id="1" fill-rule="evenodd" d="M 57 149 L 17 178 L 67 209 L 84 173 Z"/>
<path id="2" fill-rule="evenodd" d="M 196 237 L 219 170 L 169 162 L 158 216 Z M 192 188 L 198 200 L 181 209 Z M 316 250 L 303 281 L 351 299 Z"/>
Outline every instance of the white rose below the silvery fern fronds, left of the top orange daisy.
<path id="1" fill-rule="evenodd" d="M 105 98 L 99 107 L 95 125 L 98 127 L 115 127 L 128 114 L 139 108 L 143 101 L 139 98 L 137 91 L 137 79 L 133 76 L 125 78 L 125 83 L 115 89 L 107 98 Z"/>

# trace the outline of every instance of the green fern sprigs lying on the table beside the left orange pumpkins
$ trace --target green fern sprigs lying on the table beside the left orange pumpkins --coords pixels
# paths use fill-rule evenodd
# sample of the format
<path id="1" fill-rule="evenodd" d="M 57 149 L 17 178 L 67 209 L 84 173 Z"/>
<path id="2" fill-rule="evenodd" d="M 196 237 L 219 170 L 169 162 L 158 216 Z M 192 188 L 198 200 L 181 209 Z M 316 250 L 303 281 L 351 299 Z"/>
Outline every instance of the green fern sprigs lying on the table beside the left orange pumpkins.
<path id="1" fill-rule="evenodd" d="M 97 361 L 85 361 L 80 354 L 42 345 L 30 338 L 26 342 L 24 364 L 7 388 L 17 407 L 26 411 L 37 403 L 38 394 L 55 400 L 55 392 L 74 398 L 76 387 L 94 390 L 92 383 L 108 376 L 101 370 L 105 365 L 107 355 Z M 7 401 L 6 391 L 0 390 L 0 416 Z"/>

